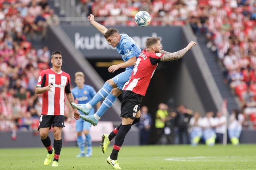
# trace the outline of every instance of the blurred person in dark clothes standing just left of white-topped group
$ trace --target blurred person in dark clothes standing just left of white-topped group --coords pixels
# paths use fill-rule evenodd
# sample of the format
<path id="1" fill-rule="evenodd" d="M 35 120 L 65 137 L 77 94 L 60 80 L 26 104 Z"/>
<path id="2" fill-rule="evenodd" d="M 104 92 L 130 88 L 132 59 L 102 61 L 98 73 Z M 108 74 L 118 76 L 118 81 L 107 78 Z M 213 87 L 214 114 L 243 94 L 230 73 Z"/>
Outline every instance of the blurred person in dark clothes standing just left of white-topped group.
<path id="1" fill-rule="evenodd" d="M 175 125 L 178 127 L 178 136 L 180 144 L 189 143 L 189 120 L 192 117 L 193 111 L 186 109 L 184 105 L 177 107 L 177 116 L 175 117 Z"/>

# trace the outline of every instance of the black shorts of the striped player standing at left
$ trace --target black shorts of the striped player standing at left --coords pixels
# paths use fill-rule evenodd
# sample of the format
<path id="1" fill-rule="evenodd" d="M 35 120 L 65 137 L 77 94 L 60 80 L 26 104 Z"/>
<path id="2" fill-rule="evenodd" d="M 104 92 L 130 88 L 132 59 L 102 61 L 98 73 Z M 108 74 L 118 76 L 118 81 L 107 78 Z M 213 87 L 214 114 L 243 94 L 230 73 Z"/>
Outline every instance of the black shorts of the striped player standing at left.
<path id="1" fill-rule="evenodd" d="M 65 116 L 63 115 L 44 115 L 41 114 L 40 116 L 40 122 L 38 125 L 38 131 L 40 128 L 52 128 L 54 126 L 56 127 L 62 127 L 64 128 L 64 120 L 65 120 Z"/>

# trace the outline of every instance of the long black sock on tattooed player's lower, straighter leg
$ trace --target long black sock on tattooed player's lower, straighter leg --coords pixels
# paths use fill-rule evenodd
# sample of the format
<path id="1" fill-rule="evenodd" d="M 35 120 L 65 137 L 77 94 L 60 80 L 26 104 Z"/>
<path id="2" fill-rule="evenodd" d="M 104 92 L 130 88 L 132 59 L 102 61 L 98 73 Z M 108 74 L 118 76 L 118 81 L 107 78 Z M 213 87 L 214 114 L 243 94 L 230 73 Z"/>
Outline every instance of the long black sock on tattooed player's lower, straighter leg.
<path id="1" fill-rule="evenodd" d="M 113 150 L 110 155 L 110 158 L 112 160 L 117 160 L 118 152 L 121 149 L 123 142 L 125 140 L 125 136 L 130 131 L 130 129 L 131 129 L 131 124 L 127 124 L 127 125 L 122 125 L 118 130 L 118 134 L 116 135 L 116 139 L 115 139 L 115 144 L 113 146 Z"/>

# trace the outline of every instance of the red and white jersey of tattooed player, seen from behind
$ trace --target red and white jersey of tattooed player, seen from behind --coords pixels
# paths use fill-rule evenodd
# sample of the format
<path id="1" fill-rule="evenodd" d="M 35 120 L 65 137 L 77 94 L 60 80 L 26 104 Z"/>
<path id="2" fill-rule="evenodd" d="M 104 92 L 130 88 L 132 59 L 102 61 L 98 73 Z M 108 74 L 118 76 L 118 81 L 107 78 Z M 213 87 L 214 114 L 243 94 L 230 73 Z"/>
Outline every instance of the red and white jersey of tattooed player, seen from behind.
<path id="1" fill-rule="evenodd" d="M 140 53 L 130 79 L 125 83 L 123 90 L 129 90 L 136 94 L 146 94 L 147 88 L 149 87 L 150 79 L 152 78 L 158 62 L 164 54 L 152 53 L 145 49 Z"/>

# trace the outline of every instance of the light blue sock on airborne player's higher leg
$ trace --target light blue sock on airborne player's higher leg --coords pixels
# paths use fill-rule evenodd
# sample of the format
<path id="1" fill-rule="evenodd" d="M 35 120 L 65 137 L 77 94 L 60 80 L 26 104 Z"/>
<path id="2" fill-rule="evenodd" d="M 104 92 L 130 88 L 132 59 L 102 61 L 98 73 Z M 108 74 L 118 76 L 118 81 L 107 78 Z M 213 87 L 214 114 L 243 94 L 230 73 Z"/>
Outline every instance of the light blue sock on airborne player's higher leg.
<path id="1" fill-rule="evenodd" d="M 100 100 L 104 99 L 113 89 L 113 87 L 109 83 L 105 83 L 103 87 L 99 90 L 99 92 L 92 98 L 89 104 L 93 107 L 95 106 Z"/>

